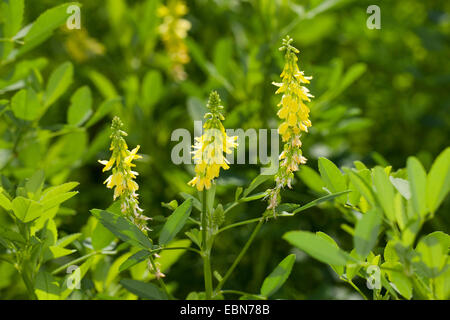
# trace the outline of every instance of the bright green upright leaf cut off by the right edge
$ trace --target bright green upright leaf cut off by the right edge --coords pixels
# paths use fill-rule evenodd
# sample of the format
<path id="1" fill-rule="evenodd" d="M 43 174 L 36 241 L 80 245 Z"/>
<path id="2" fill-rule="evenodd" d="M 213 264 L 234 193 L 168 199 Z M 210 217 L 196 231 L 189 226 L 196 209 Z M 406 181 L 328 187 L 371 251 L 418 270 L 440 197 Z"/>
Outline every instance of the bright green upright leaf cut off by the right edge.
<path id="1" fill-rule="evenodd" d="M 427 177 L 427 203 L 435 212 L 450 189 L 450 147 L 446 148 L 434 161 Z"/>

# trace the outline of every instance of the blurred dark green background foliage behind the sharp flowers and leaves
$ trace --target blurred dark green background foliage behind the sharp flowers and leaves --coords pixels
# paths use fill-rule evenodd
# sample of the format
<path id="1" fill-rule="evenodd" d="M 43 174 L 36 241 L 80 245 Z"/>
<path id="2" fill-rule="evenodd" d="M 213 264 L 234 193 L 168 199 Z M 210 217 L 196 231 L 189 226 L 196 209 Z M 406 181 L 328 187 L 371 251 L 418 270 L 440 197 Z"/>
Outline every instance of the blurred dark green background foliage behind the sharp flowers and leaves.
<path id="1" fill-rule="evenodd" d="M 405 166 L 408 156 L 415 155 L 429 170 L 432 159 L 448 145 L 448 1 L 186 1 L 185 19 L 191 29 L 185 42 L 190 62 L 182 81 L 173 79 L 158 33 L 157 8 L 162 1 L 80 2 L 81 30 L 58 29 L 22 57 L 32 62 L 43 79 L 65 61 L 74 65 L 69 92 L 47 111 L 40 126 L 48 132 L 59 130 L 66 123 L 71 93 L 84 85 L 92 89 L 93 109 L 105 100 L 112 101 L 113 108 L 86 130 L 50 136 L 46 140 L 52 143 L 50 149 L 40 142 L 21 145 L 19 158 L 12 162 L 7 142 L 11 123 L 0 123 L 2 174 L 19 180 L 43 168 L 51 183 L 80 182 L 79 195 L 67 205 L 76 214 L 60 218 L 60 232 L 78 232 L 90 217 L 89 209 L 106 208 L 112 202 L 97 159 L 109 156 L 110 120 L 118 115 L 129 134 L 129 146 L 141 145 L 144 159 L 137 162 L 140 201 L 154 219 L 151 224 L 156 234 L 158 222 L 170 214 L 161 202 L 180 201 L 179 192 L 194 192 L 186 184 L 193 167 L 177 166 L 170 160 L 176 144 L 170 141 L 172 131 L 193 131 L 193 120 L 201 117 L 211 90 L 217 90 L 224 102 L 225 127 L 276 128 L 279 97 L 271 82 L 279 80 L 283 55 L 278 47 L 287 34 L 300 50 L 300 69 L 313 76 L 309 85 L 315 96 L 310 103 L 313 126 L 303 138 L 308 167 L 317 170 L 317 158 L 325 156 L 339 166 L 361 160 L 368 166 L 389 164 L 398 169 Z M 61 1 L 25 3 L 27 24 Z M 366 9 L 372 4 L 381 9 L 379 30 L 366 27 Z M 0 99 L 14 94 L 4 90 L 12 68 L 11 64 L 0 67 Z M 218 199 L 232 201 L 236 186 L 248 185 L 258 173 L 255 165 L 232 166 L 218 180 Z M 294 188 L 283 194 L 285 201 L 305 203 L 321 194 L 320 188 L 302 182 L 302 171 L 297 177 Z M 258 217 L 265 206 L 263 201 L 240 206 L 230 212 L 227 221 Z M 424 231 L 448 232 L 445 213 L 449 209 L 447 199 L 441 208 L 444 214 Z M 266 224 L 229 286 L 257 291 L 291 250 L 281 239 L 289 230 L 321 230 L 339 239 L 341 248 L 351 248 L 351 237 L 341 229 L 342 223 L 342 214 L 325 205 L 294 220 Z M 218 238 L 213 269 L 226 271 L 250 230 L 238 228 Z M 274 298 L 357 298 L 327 266 L 296 253 L 298 262 L 290 279 Z M 185 253 L 167 274 L 176 285 L 176 294 L 183 297 L 202 290 L 201 271 L 201 261 Z M 7 273 L 0 276 L 0 297 L 20 296 L 20 290 L 11 289 L 13 277 L 12 272 L 9 277 Z"/>

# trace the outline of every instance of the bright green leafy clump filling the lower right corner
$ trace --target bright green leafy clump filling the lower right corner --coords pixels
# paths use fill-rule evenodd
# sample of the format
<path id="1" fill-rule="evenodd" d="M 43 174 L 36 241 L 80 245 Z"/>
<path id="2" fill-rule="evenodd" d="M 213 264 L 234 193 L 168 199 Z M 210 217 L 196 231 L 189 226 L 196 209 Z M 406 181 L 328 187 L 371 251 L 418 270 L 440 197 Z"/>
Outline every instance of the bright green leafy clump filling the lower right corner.
<path id="1" fill-rule="evenodd" d="M 401 175 L 406 179 L 396 178 L 402 170 L 392 173 L 391 167 L 376 166 L 369 170 L 357 163 L 355 169 L 344 168 L 344 178 L 348 179 L 343 180 L 347 184 L 342 188 L 350 189 L 351 193 L 346 203 L 336 201 L 336 205 L 344 213 L 348 210 L 358 213 L 356 219 L 345 214 L 345 218 L 355 225 L 352 230 L 354 250 L 347 254 L 353 259 L 342 258 L 346 253 L 341 252 L 334 240 L 325 234 L 322 237 L 328 241 L 319 241 L 317 235 L 306 231 L 290 231 L 283 238 L 313 258 L 329 264 L 340 279 L 351 284 L 359 293 L 361 291 L 353 283 L 353 278 L 361 276 L 372 281 L 373 274 L 368 270 L 376 266 L 380 270 L 376 273 L 379 277 L 377 281 L 385 288 L 384 293 L 382 287 L 374 289 L 376 299 L 398 298 L 397 293 L 406 299 L 447 299 L 449 291 L 444 288 L 448 281 L 445 274 L 449 259 L 449 235 L 435 231 L 420 239 L 415 247 L 414 243 L 425 222 L 434 217 L 434 207 L 427 204 L 429 188 L 432 188 L 433 194 L 439 195 L 434 199 L 445 197 L 448 193 L 449 179 L 446 174 L 450 161 L 444 164 L 443 160 L 449 154 L 448 150 L 445 149 L 437 157 L 428 176 L 420 161 L 414 157 L 408 159 L 407 170 L 403 171 L 407 175 Z M 323 158 L 319 161 L 322 168 L 334 168 Z M 437 187 L 436 184 L 431 187 L 428 181 L 436 166 L 440 167 L 444 178 L 439 178 Z M 321 177 L 328 186 L 331 185 L 330 172 L 340 175 L 337 168 L 322 169 Z M 352 197 L 352 193 L 357 194 L 359 199 Z M 437 201 L 440 204 L 441 201 Z M 384 250 L 380 243 L 382 234 L 388 238 Z M 374 252 L 380 249 L 384 251 L 384 261 L 380 261 L 379 255 L 375 256 Z M 346 267 L 345 277 L 340 266 Z M 438 277 L 441 277 L 439 281 L 435 280 Z"/>

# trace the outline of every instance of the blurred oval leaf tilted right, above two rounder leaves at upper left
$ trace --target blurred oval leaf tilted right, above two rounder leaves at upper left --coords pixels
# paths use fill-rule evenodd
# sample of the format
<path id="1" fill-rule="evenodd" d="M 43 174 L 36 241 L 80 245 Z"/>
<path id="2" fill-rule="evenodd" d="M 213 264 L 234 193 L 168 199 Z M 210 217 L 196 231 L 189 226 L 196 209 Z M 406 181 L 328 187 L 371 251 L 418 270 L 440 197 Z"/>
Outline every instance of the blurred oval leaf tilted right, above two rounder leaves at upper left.
<path id="1" fill-rule="evenodd" d="M 64 62 L 52 72 L 44 93 L 45 107 L 53 104 L 69 87 L 73 78 L 73 65 Z"/>

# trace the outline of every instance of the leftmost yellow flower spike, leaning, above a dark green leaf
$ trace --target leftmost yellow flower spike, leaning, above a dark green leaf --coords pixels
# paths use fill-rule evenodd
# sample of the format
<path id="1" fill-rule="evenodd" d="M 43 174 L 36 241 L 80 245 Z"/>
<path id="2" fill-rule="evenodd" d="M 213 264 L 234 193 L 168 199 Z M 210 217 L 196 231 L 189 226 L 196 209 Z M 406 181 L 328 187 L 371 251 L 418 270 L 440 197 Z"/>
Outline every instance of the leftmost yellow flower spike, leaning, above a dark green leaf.
<path id="1" fill-rule="evenodd" d="M 121 130 L 123 126 L 118 117 L 114 117 L 112 121 L 111 158 L 109 160 L 99 160 L 104 165 L 103 172 L 111 170 L 112 174 L 105 180 L 106 187 L 114 188 L 114 200 L 119 198 L 120 208 L 122 213 L 129 217 L 142 231 L 150 230 L 146 226 L 146 221 L 150 218 L 142 214 L 142 209 L 139 207 L 139 200 L 137 190 L 139 185 L 134 181 L 138 173 L 132 168 L 136 165 L 133 160 L 142 158 L 137 154 L 139 145 L 133 150 L 129 151 L 124 136 L 127 136 L 125 131 Z"/>

